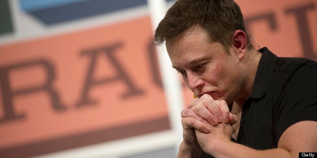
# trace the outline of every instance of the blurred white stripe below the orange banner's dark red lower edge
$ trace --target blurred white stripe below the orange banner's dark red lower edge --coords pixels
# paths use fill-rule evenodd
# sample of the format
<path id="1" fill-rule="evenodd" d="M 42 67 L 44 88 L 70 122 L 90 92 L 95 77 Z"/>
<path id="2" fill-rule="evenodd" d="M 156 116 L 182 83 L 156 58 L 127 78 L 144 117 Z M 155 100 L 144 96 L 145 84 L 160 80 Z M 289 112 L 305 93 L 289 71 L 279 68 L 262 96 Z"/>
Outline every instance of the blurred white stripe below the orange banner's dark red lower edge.
<path id="1" fill-rule="evenodd" d="M 75 149 L 64 150 L 34 158 L 60 158 L 60 157 L 107 157 L 116 158 L 139 154 L 142 152 L 150 152 L 164 149 L 167 147 L 174 147 L 175 137 L 171 130 L 161 131 L 141 136 L 129 137 L 116 141 L 93 144 Z"/>

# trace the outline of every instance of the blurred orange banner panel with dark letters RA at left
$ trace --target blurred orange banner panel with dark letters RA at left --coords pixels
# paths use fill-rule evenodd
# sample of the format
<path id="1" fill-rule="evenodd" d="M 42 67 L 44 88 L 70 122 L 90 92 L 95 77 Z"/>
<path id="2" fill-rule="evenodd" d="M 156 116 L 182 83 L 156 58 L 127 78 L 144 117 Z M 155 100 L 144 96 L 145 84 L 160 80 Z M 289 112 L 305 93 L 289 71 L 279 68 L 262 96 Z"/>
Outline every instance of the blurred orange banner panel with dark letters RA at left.
<path id="1" fill-rule="evenodd" d="M 1 46 L 0 148 L 96 131 L 102 142 L 169 129 L 151 34 L 144 17 Z M 153 127 L 123 128 L 142 122 Z"/>

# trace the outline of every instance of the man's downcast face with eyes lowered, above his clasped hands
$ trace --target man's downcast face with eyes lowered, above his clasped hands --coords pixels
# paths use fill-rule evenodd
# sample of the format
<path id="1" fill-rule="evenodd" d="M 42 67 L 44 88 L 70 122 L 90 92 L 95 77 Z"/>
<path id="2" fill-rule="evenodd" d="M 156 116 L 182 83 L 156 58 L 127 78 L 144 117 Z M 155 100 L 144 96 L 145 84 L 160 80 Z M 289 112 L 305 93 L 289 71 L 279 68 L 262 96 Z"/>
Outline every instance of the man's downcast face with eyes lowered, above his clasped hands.
<path id="1" fill-rule="evenodd" d="M 241 91 L 240 60 L 220 43 L 210 42 L 202 29 L 194 28 L 177 42 L 167 41 L 166 46 L 173 67 L 198 97 L 207 93 L 231 104 Z"/>

